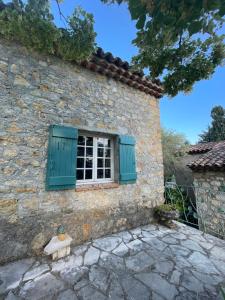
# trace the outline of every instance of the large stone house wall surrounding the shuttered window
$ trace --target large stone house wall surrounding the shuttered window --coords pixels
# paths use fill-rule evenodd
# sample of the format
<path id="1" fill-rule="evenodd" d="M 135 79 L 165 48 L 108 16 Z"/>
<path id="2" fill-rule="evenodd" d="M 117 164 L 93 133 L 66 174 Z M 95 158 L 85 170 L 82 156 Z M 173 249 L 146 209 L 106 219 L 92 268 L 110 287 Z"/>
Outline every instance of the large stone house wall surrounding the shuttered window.
<path id="1" fill-rule="evenodd" d="M 0 103 L 1 263 L 40 253 L 59 224 L 79 244 L 152 220 L 163 202 L 157 99 L 1 40 Z M 46 192 L 50 124 L 135 136 L 136 184 Z"/>

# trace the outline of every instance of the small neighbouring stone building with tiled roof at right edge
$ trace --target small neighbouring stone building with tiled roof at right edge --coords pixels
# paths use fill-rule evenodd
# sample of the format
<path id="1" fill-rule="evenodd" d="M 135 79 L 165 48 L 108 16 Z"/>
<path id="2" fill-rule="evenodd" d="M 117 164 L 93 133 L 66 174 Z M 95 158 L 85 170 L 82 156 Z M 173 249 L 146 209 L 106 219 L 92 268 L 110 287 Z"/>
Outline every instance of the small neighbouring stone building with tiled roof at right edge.
<path id="1" fill-rule="evenodd" d="M 188 164 L 200 229 L 225 238 L 225 141 L 197 144 L 189 154 L 200 155 Z"/>

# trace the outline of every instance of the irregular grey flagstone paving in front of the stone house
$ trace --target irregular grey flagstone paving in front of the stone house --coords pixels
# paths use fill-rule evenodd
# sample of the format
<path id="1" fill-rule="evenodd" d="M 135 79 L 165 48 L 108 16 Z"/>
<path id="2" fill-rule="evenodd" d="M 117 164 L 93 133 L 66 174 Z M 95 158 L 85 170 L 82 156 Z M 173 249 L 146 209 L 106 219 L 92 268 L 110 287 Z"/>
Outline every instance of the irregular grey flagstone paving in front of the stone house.
<path id="1" fill-rule="evenodd" d="M 179 225 L 148 225 L 76 247 L 56 262 L 0 267 L 2 299 L 222 299 L 225 241 Z M 1 298 L 1 296 L 0 296 Z"/>

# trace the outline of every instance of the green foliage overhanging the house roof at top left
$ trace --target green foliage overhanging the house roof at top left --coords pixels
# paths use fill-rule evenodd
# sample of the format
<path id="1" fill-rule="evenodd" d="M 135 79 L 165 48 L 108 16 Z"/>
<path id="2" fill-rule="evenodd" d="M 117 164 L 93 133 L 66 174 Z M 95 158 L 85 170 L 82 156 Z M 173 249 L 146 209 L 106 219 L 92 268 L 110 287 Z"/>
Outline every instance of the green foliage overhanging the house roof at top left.
<path id="1" fill-rule="evenodd" d="M 0 11 L 0 36 L 64 60 L 88 58 L 95 49 L 93 16 L 78 8 L 67 21 L 66 29 L 55 26 L 48 0 L 13 0 Z"/>

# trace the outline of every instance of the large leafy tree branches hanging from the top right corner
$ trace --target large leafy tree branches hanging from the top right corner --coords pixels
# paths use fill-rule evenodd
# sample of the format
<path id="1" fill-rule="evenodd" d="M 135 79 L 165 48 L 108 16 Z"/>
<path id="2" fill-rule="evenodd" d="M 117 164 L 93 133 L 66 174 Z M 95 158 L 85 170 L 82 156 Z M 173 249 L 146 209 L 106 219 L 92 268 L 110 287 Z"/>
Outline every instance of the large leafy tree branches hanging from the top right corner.
<path id="1" fill-rule="evenodd" d="M 149 69 L 149 77 L 163 78 L 165 91 L 175 96 L 191 91 L 196 81 L 209 78 L 225 59 L 224 0 L 102 0 L 126 2 L 136 21 L 133 43 L 139 53 L 137 69 Z"/>

